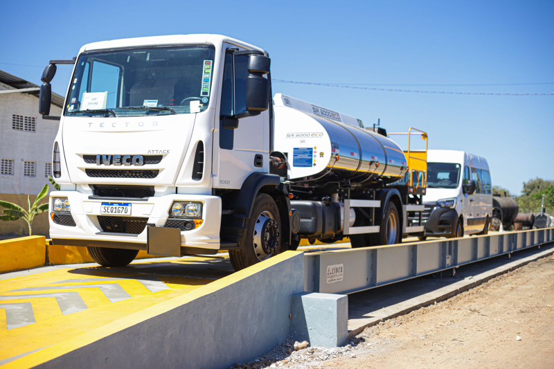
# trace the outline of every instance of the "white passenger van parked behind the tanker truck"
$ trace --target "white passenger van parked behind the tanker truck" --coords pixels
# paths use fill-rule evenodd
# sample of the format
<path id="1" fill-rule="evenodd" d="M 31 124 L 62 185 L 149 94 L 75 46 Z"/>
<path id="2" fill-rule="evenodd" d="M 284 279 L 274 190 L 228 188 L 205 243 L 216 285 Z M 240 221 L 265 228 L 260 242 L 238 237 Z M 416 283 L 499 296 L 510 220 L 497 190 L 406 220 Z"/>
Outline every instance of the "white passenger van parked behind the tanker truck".
<path id="1" fill-rule="evenodd" d="M 485 158 L 463 151 L 429 150 L 423 204 L 425 235 L 420 239 L 487 234 L 492 182 Z"/>

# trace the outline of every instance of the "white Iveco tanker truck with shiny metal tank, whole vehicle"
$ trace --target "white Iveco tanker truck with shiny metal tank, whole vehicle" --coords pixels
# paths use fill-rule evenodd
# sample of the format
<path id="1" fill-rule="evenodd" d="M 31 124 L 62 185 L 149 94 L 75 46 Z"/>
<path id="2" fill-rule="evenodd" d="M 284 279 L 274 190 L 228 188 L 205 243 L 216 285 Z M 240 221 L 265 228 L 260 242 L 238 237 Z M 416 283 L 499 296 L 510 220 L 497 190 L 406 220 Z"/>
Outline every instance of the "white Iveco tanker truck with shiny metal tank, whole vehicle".
<path id="1" fill-rule="evenodd" d="M 74 65 L 61 117 L 48 115 L 56 64 Z M 53 242 L 109 267 L 139 250 L 224 249 L 239 270 L 301 238 L 360 247 L 421 234 L 426 150 L 406 155 L 361 120 L 289 96 L 272 102 L 269 65 L 222 35 L 95 42 L 52 60 L 39 112 L 60 120 Z"/>

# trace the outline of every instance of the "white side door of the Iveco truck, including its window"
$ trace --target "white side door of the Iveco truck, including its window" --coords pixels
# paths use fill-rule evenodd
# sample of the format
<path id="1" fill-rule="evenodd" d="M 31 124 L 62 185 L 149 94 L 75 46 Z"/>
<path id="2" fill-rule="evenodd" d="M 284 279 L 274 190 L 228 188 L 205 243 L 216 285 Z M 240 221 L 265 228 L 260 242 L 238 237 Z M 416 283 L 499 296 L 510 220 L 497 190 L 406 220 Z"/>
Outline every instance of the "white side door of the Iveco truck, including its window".
<path id="1" fill-rule="evenodd" d="M 235 45 L 224 44 L 224 48 Z M 220 154 L 215 188 L 241 188 L 252 172 L 269 172 L 269 114 L 239 120 L 237 129 L 224 128 L 222 116 L 240 114 L 246 109 L 247 55 L 224 55 L 219 118 Z M 217 140 L 216 140 L 217 141 Z"/>

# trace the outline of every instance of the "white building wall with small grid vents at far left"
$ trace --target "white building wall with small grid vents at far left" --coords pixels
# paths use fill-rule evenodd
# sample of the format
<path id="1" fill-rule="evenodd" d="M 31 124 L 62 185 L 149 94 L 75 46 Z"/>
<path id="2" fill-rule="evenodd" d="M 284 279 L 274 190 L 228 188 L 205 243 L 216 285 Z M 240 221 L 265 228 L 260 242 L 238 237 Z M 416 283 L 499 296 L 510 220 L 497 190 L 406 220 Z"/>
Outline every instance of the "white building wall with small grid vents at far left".
<path id="1" fill-rule="evenodd" d="M 13 89 L 0 83 L 0 90 Z M 0 161 L 13 160 L 13 174 L 0 174 L 0 194 L 36 195 L 48 183 L 46 163 L 51 163 L 52 147 L 59 120 L 46 120 L 38 113 L 37 96 L 27 93 L 0 93 Z M 50 114 L 62 109 L 52 105 Z M 12 115 L 35 117 L 35 132 L 12 128 Z M 35 176 L 24 175 L 24 162 L 35 162 Z"/>

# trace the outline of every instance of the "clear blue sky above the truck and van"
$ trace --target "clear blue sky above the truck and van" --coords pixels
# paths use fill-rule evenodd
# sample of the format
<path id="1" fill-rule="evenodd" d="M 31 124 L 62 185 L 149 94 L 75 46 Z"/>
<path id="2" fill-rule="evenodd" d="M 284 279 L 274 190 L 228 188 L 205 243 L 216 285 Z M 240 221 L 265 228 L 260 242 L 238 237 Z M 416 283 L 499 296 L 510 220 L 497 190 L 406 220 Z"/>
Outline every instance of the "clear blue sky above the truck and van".
<path id="1" fill-rule="evenodd" d="M 51 0 L 4 1 L 2 8 L 0 69 L 37 84 L 48 60 L 71 58 L 89 42 L 221 33 L 269 51 L 272 77 L 283 80 L 404 84 L 415 86 L 386 88 L 430 91 L 554 91 L 554 1 Z M 69 67 L 60 66 L 53 91 L 63 95 L 68 82 Z M 553 83 L 440 86 L 529 82 Z M 515 193 L 528 179 L 554 179 L 554 96 L 285 83 L 274 83 L 273 91 L 356 116 L 366 125 L 381 118 L 389 132 L 424 129 L 431 149 L 485 156 L 493 183 Z"/>

